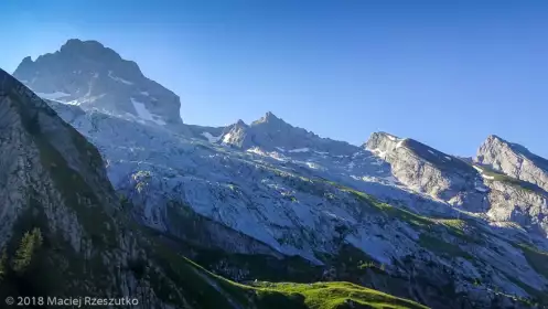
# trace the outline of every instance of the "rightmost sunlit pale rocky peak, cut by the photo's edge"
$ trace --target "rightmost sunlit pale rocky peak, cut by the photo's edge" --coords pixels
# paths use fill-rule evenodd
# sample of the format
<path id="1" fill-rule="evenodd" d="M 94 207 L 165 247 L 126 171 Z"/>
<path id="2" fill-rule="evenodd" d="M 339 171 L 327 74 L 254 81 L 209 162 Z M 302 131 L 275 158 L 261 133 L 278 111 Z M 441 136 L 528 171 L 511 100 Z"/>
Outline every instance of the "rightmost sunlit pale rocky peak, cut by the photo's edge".
<path id="1" fill-rule="evenodd" d="M 490 136 L 477 150 L 475 162 L 548 191 L 548 160 L 520 145 Z"/>

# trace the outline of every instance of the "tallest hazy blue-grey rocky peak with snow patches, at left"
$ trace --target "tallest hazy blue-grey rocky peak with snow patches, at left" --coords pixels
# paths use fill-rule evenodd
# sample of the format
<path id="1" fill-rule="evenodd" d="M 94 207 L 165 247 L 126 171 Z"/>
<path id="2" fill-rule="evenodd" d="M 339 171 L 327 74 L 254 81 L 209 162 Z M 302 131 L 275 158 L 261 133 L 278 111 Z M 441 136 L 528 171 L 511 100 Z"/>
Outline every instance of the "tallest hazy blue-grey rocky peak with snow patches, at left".
<path id="1" fill-rule="evenodd" d="M 13 76 L 42 98 L 180 127 L 181 102 L 139 66 L 96 41 L 68 40 L 60 51 L 26 57 Z"/>

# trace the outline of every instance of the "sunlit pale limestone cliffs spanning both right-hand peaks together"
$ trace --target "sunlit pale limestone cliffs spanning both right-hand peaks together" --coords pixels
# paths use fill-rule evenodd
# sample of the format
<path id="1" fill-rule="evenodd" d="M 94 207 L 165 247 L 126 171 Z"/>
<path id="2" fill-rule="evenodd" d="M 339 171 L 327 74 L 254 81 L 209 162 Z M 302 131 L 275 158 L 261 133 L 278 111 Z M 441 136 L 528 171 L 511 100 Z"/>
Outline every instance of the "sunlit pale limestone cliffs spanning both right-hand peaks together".
<path id="1" fill-rule="evenodd" d="M 513 222 L 527 231 L 548 232 L 545 159 L 524 147 L 491 136 L 473 160 L 461 160 L 411 139 L 373 134 L 365 146 L 390 163 L 393 174 L 419 192 L 493 222 Z"/>

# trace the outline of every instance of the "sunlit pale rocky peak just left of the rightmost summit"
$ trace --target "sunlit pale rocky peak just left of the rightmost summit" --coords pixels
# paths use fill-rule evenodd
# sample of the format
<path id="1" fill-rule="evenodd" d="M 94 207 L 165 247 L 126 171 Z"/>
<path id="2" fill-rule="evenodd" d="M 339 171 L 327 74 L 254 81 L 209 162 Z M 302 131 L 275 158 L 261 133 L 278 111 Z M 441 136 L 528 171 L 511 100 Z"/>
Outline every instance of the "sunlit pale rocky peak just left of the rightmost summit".
<path id="1" fill-rule="evenodd" d="M 483 211 L 484 192 L 477 171 L 459 158 L 412 139 L 375 132 L 364 148 L 390 163 L 400 182 L 469 211 Z"/>

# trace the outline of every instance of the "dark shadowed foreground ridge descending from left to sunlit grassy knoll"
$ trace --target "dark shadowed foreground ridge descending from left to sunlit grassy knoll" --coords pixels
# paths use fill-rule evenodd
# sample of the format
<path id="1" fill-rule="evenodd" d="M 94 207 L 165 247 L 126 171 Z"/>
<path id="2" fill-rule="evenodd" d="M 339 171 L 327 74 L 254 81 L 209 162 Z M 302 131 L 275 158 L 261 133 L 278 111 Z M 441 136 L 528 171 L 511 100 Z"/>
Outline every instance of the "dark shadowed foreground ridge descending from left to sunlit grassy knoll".
<path id="1" fill-rule="evenodd" d="M 346 283 L 251 287 L 206 271 L 133 224 L 97 149 L 1 70 L 0 201 L 1 298 L 128 297 L 139 302 L 133 308 L 425 308 Z"/>

